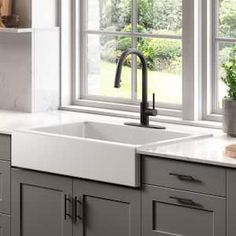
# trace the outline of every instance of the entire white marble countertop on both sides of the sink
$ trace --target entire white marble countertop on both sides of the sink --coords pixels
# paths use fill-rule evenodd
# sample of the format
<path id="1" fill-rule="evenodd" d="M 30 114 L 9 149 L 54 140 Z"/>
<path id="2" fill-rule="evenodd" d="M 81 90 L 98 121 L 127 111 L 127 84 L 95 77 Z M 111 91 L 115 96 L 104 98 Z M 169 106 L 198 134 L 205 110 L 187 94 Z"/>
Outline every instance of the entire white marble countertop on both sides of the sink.
<path id="1" fill-rule="evenodd" d="M 21 113 L 0 110 L 0 133 L 11 134 L 15 130 L 32 129 L 60 125 L 83 120 L 123 123 L 124 118 L 100 116 L 67 111 L 44 113 Z M 225 146 L 236 143 L 236 138 L 227 137 L 216 129 L 199 128 L 185 125 L 164 124 L 167 129 L 191 133 L 212 133 L 212 137 L 190 139 L 163 145 L 145 145 L 137 149 L 138 154 L 184 160 L 210 165 L 236 168 L 236 159 L 225 156 Z"/>

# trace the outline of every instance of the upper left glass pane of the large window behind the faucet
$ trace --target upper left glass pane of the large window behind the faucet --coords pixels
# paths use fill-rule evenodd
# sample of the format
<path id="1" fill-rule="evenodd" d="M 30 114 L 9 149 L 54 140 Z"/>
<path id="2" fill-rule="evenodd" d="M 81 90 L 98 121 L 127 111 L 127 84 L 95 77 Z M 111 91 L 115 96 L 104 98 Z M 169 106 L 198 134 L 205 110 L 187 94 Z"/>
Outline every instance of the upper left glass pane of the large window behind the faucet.
<path id="1" fill-rule="evenodd" d="M 89 30 L 131 30 L 131 0 L 88 0 L 87 4 Z"/>

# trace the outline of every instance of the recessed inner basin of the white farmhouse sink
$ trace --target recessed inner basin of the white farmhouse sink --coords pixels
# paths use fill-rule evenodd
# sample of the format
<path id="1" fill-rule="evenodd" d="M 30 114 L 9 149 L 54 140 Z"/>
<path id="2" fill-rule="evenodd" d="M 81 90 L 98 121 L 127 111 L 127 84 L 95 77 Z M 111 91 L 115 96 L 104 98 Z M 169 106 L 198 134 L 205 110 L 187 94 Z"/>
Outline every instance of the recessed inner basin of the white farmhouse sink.
<path id="1" fill-rule="evenodd" d="M 189 134 L 186 133 L 168 130 L 144 129 L 125 125 L 96 122 L 66 124 L 35 130 L 51 134 L 60 134 L 136 146 L 189 136 Z"/>

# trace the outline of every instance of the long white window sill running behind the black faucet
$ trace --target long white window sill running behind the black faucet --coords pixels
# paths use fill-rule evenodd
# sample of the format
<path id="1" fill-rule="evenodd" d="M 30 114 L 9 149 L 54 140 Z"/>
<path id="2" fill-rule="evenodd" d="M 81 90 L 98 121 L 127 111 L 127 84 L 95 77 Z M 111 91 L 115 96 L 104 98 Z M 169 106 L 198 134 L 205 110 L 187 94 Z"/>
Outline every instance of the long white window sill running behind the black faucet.
<path id="1" fill-rule="evenodd" d="M 137 112 L 119 111 L 119 110 L 77 106 L 77 105 L 63 106 L 60 108 L 60 110 L 139 120 L 139 113 Z M 188 125 L 188 126 L 196 126 L 196 127 L 211 128 L 211 129 L 222 129 L 222 123 L 215 121 L 204 121 L 204 120 L 187 121 L 177 117 L 162 116 L 162 115 L 159 115 L 155 118 L 150 117 L 150 120 L 152 122 Z"/>

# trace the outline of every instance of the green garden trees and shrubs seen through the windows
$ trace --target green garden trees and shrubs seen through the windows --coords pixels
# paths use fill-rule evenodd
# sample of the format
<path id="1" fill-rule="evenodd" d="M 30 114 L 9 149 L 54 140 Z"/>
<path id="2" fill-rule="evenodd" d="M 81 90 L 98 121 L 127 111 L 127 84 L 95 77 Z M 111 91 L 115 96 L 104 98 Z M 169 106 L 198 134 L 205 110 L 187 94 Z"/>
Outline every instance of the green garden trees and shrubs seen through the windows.
<path id="1" fill-rule="evenodd" d="M 106 5 L 109 2 L 109 7 Z M 159 33 L 180 35 L 182 31 L 182 7 L 179 0 L 137 0 L 139 33 Z M 111 25 L 118 26 L 119 31 L 131 32 L 131 0 L 101 0 L 100 25 L 109 31 Z M 105 6 L 106 5 L 106 6 Z M 106 11 L 104 11 L 106 9 Z M 235 0 L 220 0 L 220 34 L 236 37 Z M 111 28 L 110 28 L 111 29 Z M 132 46 L 130 37 L 102 36 L 102 59 L 115 62 L 121 52 Z M 138 38 L 137 48 L 147 57 L 150 70 L 176 72 L 182 60 L 182 45 L 177 40 L 156 38 Z M 221 58 L 226 58 L 228 48 L 222 50 Z M 222 62 L 223 63 L 223 62 Z M 130 66 L 131 59 L 126 65 Z M 177 69 L 178 70 L 178 69 Z"/>

